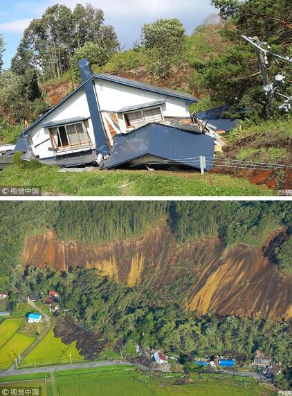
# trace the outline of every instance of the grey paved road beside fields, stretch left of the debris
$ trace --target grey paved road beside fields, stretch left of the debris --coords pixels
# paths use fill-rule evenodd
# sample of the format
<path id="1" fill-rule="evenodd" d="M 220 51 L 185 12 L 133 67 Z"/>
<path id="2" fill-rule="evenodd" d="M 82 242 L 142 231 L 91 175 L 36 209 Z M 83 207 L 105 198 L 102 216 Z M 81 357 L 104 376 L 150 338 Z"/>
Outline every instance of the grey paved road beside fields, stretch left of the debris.
<path id="1" fill-rule="evenodd" d="M 37 367 L 37 368 L 27 368 L 20 370 L 9 370 L 0 372 L 0 377 L 6 377 L 7 375 L 25 375 L 25 374 L 34 374 L 35 372 L 55 372 L 60 370 L 75 370 L 76 368 L 95 368 L 95 367 L 103 367 L 106 365 L 134 365 L 133 363 L 129 363 L 127 361 L 91 361 L 88 363 L 73 363 L 73 364 L 63 364 L 63 365 L 51 365 L 45 367 Z"/>

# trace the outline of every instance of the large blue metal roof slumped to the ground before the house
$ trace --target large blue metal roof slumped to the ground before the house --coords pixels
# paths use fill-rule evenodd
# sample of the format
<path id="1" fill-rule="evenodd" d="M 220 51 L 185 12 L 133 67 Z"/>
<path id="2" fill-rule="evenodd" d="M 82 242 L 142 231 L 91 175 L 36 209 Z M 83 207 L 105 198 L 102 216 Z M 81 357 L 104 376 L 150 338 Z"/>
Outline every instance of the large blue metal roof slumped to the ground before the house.
<path id="1" fill-rule="evenodd" d="M 109 158 L 102 168 L 110 169 L 145 155 L 199 168 L 199 156 L 212 158 L 213 154 L 214 139 L 208 135 L 149 123 L 127 135 L 116 135 Z M 212 161 L 208 162 L 206 169 L 212 169 Z"/>

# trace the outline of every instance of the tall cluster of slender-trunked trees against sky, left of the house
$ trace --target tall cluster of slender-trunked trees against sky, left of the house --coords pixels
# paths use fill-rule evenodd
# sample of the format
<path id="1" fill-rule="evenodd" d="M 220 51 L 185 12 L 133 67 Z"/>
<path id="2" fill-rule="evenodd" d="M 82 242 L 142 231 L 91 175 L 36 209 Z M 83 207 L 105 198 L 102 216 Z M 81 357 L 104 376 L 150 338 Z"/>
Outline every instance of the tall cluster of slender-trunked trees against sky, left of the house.
<path id="1" fill-rule="evenodd" d="M 69 69 L 76 49 L 86 42 L 93 42 L 108 56 L 118 49 L 116 33 L 112 26 L 104 25 L 102 10 L 77 4 L 72 12 L 55 4 L 24 31 L 12 59 L 12 71 L 24 74 L 31 67 L 42 80 L 60 78 Z"/>

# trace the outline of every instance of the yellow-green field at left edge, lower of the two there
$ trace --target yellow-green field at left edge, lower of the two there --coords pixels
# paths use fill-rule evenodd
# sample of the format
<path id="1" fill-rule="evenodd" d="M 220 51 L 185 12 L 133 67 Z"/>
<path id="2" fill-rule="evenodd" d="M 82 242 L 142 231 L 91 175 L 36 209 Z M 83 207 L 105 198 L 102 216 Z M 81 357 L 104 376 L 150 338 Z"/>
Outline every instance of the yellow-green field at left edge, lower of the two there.
<path id="1" fill-rule="evenodd" d="M 25 350 L 35 341 L 35 337 L 25 336 L 16 333 L 0 350 L 0 370 L 5 370 L 15 362 L 15 358 L 19 354 L 23 354 Z"/>

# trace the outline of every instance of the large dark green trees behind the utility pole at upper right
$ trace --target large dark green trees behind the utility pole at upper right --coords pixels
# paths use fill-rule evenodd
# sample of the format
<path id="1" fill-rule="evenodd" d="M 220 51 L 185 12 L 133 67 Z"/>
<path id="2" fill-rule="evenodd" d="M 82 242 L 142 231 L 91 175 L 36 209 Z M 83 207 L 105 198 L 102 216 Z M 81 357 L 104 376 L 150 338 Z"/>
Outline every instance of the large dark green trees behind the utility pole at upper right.
<path id="1" fill-rule="evenodd" d="M 255 48 L 241 35 L 253 37 L 271 45 L 275 53 L 289 55 L 289 37 L 292 25 L 289 0 L 213 0 L 221 17 L 227 21 L 221 34 L 231 42 L 220 55 L 208 63 L 194 65 L 210 89 L 212 99 L 227 103 L 236 110 L 245 107 L 251 114 L 268 117 L 267 99 L 262 89 L 262 75 L 258 68 Z M 268 55 L 270 76 L 281 72 L 289 76 L 289 62 L 279 65 Z M 282 92 L 285 93 L 285 90 Z M 289 88 L 286 88 L 289 95 Z M 275 105 L 274 108 L 277 108 Z M 271 114 L 273 115 L 273 114 Z M 246 114 L 248 116 L 248 114 Z"/>

